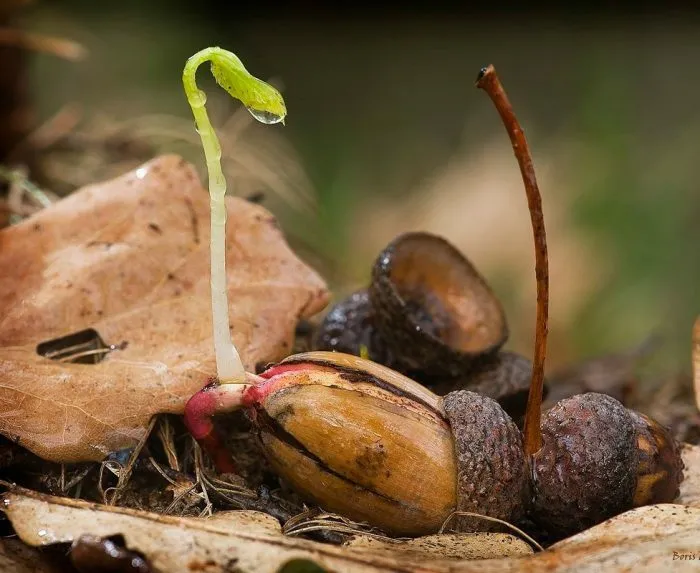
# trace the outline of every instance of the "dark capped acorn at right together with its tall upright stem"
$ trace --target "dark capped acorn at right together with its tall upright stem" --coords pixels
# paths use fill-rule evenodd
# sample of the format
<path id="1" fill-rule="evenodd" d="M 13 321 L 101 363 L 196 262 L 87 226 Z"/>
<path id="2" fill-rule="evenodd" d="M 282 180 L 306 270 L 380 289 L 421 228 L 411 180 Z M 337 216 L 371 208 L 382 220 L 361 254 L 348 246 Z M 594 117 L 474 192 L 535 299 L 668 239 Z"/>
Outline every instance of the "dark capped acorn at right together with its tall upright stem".
<path id="1" fill-rule="evenodd" d="M 527 140 L 493 66 L 481 70 L 476 85 L 491 98 L 511 139 L 535 242 L 535 358 L 523 429 L 533 493 L 530 516 L 558 537 L 636 505 L 671 502 L 683 479 L 683 462 L 677 444 L 656 422 L 596 393 L 561 400 L 541 419 L 549 307 L 542 198 Z"/>

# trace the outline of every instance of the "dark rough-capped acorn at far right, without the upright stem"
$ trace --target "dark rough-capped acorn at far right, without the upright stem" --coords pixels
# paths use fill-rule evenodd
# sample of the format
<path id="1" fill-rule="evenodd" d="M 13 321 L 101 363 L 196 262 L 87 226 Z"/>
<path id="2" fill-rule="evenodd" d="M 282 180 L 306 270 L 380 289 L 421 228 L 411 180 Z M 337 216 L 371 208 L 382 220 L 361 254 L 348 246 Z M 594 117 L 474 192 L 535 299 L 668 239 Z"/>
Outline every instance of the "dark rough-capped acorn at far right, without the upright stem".
<path id="1" fill-rule="evenodd" d="M 611 396 L 589 392 L 561 400 L 545 414 L 542 437 L 532 463 L 532 517 L 556 536 L 679 494 L 677 442 Z"/>

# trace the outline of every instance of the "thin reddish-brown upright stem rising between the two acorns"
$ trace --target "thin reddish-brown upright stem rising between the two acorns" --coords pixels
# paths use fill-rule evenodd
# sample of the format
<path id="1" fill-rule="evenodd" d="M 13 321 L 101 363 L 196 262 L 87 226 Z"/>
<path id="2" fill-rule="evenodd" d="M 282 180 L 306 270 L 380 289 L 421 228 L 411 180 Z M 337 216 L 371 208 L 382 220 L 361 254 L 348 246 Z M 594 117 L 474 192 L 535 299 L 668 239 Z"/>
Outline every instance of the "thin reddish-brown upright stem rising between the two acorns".
<path id="1" fill-rule="evenodd" d="M 547 353 L 547 315 L 549 313 L 549 263 L 547 261 L 547 236 L 542 214 L 542 196 L 535 178 L 530 149 L 525 139 L 513 107 L 508 100 L 496 69 L 488 66 L 479 72 L 476 87 L 484 90 L 496 106 L 503 125 L 508 132 L 520 173 L 525 184 L 525 194 L 532 221 L 535 240 L 535 277 L 537 279 L 537 318 L 535 324 L 535 353 L 532 359 L 532 380 L 525 410 L 525 454 L 532 456 L 542 447 L 542 389 L 544 382 L 544 361 Z"/>

